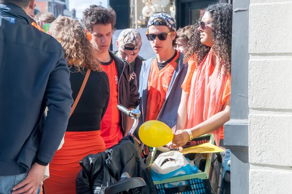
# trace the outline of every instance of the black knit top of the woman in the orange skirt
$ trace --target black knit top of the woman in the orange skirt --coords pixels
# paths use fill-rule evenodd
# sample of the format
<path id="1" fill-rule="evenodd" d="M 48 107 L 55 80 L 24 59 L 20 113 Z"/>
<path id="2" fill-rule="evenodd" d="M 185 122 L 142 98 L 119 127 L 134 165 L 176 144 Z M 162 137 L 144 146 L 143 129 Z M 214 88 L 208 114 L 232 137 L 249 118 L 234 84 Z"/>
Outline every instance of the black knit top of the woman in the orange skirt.
<path id="1" fill-rule="evenodd" d="M 75 100 L 85 73 L 76 73 L 70 69 L 70 82 Z M 82 96 L 69 119 L 67 132 L 86 132 L 100 130 L 100 122 L 107 110 L 110 99 L 110 83 L 105 72 L 91 71 Z"/>

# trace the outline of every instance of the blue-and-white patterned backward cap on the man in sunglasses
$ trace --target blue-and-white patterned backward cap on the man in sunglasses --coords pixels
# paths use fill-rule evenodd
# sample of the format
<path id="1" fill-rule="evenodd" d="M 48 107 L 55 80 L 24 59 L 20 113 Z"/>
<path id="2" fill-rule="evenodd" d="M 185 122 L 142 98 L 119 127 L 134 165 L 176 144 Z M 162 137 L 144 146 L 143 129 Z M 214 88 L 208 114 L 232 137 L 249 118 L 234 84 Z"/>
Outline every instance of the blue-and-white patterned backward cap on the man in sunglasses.
<path id="1" fill-rule="evenodd" d="M 154 21 L 154 19 L 157 19 L 157 18 L 162 18 L 165 20 L 165 22 Z M 148 21 L 147 28 L 151 25 L 167 26 L 170 29 L 176 31 L 175 20 L 170 15 L 165 14 L 165 13 L 158 13 L 151 16 Z"/>

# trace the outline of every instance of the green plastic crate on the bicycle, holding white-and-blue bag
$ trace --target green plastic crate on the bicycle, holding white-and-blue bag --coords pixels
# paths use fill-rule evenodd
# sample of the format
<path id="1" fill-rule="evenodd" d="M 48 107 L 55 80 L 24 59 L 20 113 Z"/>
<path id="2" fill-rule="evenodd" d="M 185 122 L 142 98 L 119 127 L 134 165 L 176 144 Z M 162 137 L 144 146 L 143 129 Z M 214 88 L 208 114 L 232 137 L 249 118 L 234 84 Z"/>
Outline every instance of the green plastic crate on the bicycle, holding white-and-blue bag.
<path id="1" fill-rule="evenodd" d="M 192 140 L 192 142 L 196 142 L 196 144 L 202 144 L 205 142 L 210 142 L 214 144 L 214 135 L 208 134 Z M 190 147 L 193 145 L 187 145 L 185 147 Z M 148 158 L 147 164 L 148 166 L 153 163 L 158 155 L 162 152 L 158 151 L 157 148 L 153 148 L 151 152 L 151 156 Z M 173 178 L 167 178 L 163 181 L 153 181 L 156 186 L 156 190 L 158 194 L 213 194 L 217 193 L 218 190 L 218 181 L 220 177 L 218 176 L 220 173 L 220 164 L 216 160 L 215 154 L 206 154 L 206 162 L 205 167 L 201 173 L 193 174 L 193 175 L 183 175 Z M 211 173 L 210 173 L 211 171 Z M 173 183 L 178 181 L 188 181 L 188 185 L 165 188 L 165 183 Z M 212 186 L 211 186 L 212 185 Z"/>

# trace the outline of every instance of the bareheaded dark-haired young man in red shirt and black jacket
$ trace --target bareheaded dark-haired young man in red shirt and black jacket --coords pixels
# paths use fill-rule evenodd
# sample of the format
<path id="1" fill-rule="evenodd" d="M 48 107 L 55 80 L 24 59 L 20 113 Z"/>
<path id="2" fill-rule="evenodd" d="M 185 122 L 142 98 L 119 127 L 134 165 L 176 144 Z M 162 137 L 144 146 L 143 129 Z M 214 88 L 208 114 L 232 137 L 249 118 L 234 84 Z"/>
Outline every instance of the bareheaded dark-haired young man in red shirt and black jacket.
<path id="1" fill-rule="evenodd" d="M 83 12 L 83 22 L 86 30 L 91 33 L 95 58 L 101 61 L 110 80 L 110 102 L 101 122 L 101 136 L 106 147 L 110 148 L 127 135 L 132 126 L 133 120 L 123 115 L 117 105 L 122 104 L 130 110 L 139 105 L 137 78 L 126 60 L 117 58 L 109 51 L 116 22 L 114 10 L 111 7 L 91 5 Z"/>

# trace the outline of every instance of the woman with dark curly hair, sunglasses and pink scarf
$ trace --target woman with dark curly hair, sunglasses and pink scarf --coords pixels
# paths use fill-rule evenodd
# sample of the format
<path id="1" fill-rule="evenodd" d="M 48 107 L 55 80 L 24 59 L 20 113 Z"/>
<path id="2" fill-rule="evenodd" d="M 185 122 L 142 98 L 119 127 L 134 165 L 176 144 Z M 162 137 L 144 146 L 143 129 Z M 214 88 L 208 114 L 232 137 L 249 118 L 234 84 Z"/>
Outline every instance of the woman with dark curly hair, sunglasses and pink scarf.
<path id="1" fill-rule="evenodd" d="M 174 147 L 208 133 L 214 134 L 219 145 L 223 125 L 230 119 L 232 5 L 210 5 L 199 24 L 185 50 L 189 67 L 182 85 Z"/>

